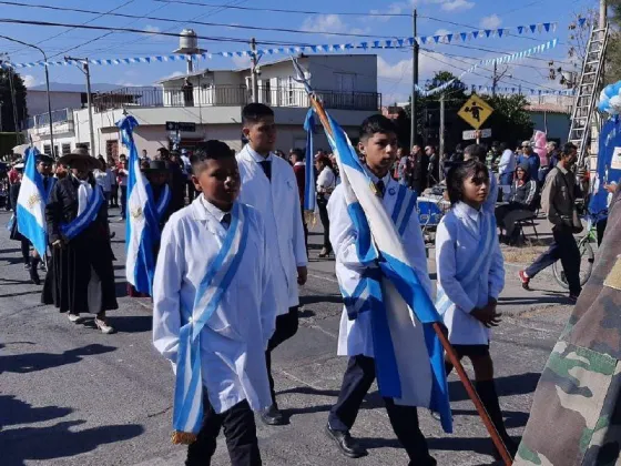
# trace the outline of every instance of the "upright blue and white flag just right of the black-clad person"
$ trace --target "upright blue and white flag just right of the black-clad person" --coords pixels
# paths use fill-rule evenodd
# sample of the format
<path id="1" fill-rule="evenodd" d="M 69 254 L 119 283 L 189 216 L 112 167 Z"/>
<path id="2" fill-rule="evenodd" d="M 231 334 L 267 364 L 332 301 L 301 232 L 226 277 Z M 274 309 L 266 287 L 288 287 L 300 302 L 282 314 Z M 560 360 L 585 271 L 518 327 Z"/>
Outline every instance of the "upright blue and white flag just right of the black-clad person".
<path id="1" fill-rule="evenodd" d="M 130 153 L 128 176 L 128 207 L 125 224 L 125 277 L 140 293 L 153 295 L 155 256 L 153 245 L 160 239 L 160 223 L 149 181 L 140 171 L 133 130 L 138 121 L 123 116 L 116 122 L 123 144 Z"/>

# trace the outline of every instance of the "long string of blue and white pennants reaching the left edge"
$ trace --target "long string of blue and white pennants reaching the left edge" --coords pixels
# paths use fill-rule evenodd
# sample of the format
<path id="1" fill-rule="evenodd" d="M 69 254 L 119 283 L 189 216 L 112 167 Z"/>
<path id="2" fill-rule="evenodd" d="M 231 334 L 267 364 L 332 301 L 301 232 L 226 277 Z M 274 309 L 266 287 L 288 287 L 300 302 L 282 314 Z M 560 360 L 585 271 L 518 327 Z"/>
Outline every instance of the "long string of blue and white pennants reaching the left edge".
<path id="1" fill-rule="evenodd" d="M 580 24 L 584 26 L 586 20 Z M 349 42 L 339 44 L 318 44 L 318 45 L 299 45 L 299 47 L 279 47 L 271 49 L 258 49 L 255 53 L 262 55 L 291 55 L 294 53 L 329 53 L 340 52 L 348 50 L 369 50 L 369 49 L 403 49 L 413 47 L 414 43 L 419 45 L 439 44 L 439 43 L 455 43 L 468 42 L 470 40 L 483 38 L 503 38 L 512 32 L 519 36 L 536 33 L 536 32 L 550 32 L 556 31 L 556 22 L 539 22 L 535 24 L 517 26 L 509 28 L 497 29 L 481 29 L 467 32 L 447 32 L 445 34 L 434 36 L 417 36 L 401 39 L 384 39 L 364 42 Z M 141 64 L 141 63 L 163 63 L 186 60 L 211 60 L 214 57 L 235 58 L 235 57 L 252 57 L 252 50 L 242 50 L 236 52 L 204 52 L 196 54 L 167 54 L 167 55 L 152 55 L 152 57 L 132 57 L 132 58 L 115 58 L 115 59 L 89 59 L 89 64 L 93 65 L 123 65 L 123 64 Z M 75 60 L 58 60 L 58 61 L 33 61 L 26 63 L 11 63 L 2 62 L 2 68 L 34 68 L 34 67 L 67 67 L 73 64 L 81 64 L 83 61 Z"/>

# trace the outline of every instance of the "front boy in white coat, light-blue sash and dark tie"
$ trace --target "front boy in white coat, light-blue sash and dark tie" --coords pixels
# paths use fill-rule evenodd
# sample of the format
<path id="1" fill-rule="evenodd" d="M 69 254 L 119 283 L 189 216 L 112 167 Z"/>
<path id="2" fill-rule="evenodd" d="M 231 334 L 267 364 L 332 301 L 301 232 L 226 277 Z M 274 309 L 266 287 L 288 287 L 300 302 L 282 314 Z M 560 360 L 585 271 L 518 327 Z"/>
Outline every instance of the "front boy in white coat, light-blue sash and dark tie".
<path id="1" fill-rule="evenodd" d="M 207 141 L 192 170 L 202 194 L 166 223 L 153 286 L 153 343 L 176 374 L 173 442 L 190 444 L 187 466 L 208 465 L 224 426 L 232 465 L 256 466 L 253 411 L 272 404 L 267 236 L 261 214 L 236 201 L 240 173 L 225 143 Z"/>

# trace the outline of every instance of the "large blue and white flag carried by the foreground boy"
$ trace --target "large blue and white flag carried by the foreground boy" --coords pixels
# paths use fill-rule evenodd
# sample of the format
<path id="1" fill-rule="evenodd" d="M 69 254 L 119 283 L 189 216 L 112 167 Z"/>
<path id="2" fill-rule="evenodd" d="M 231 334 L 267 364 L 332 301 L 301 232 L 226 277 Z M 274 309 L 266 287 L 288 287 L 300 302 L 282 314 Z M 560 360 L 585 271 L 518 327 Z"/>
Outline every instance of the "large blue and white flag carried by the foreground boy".
<path id="1" fill-rule="evenodd" d="M 293 63 L 297 81 L 312 94 L 303 70 L 295 59 Z M 358 312 L 371 313 L 379 393 L 398 405 L 423 406 L 439 413 L 444 430 L 450 433 L 444 350 L 432 326 L 442 322 L 441 317 L 419 282 L 395 222 L 373 191 L 347 134 L 320 104 L 315 103 L 315 108 L 338 162 L 347 211 L 357 233 L 358 261 L 368 264 L 356 288 L 345 292 L 364 298 L 364 308 Z M 414 340 L 413 328 L 418 328 Z"/>

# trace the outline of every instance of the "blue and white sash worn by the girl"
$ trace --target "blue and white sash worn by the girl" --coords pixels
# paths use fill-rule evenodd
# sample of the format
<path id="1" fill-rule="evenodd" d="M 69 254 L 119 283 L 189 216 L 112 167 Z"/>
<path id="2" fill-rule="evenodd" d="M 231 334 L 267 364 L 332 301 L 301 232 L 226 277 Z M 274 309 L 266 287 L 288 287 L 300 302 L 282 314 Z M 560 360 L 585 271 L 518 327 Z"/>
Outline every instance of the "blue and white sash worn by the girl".
<path id="1" fill-rule="evenodd" d="M 470 290 L 476 285 L 479 277 L 489 269 L 493 254 L 490 253 L 496 237 L 496 220 L 493 215 L 486 213 L 481 216 L 481 239 L 478 247 L 468 261 L 457 271 L 456 278 L 464 290 Z M 455 303 L 450 301 L 440 284 L 436 296 L 436 308 L 440 315 L 455 311 Z"/>

